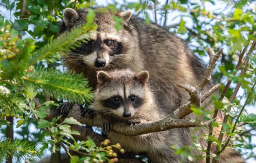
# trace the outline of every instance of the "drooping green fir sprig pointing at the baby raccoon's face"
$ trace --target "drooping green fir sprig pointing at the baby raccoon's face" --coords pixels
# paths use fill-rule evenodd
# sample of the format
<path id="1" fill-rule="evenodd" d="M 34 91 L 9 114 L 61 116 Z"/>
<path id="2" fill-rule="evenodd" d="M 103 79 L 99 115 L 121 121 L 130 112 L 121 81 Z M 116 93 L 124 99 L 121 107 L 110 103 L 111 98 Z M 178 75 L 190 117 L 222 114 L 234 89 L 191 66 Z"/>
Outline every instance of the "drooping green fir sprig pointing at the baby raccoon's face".
<path id="1" fill-rule="evenodd" d="M 90 102 L 92 99 L 91 88 L 86 87 L 88 80 L 82 74 L 61 72 L 53 68 L 35 68 L 22 79 L 26 86 L 42 88 L 56 99 L 62 97 L 79 104 Z"/>

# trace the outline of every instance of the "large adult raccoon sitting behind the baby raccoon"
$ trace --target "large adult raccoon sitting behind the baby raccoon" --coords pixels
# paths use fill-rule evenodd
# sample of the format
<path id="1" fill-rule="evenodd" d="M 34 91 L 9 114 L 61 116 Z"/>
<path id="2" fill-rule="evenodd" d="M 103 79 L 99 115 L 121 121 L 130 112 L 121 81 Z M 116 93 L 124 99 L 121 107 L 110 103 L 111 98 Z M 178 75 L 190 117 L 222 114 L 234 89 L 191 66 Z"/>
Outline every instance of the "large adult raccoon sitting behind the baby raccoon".
<path id="1" fill-rule="evenodd" d="M 66 8 L 63 12 L 62 32 L 86 23 L 86 9 L 75 11 Z M 117 31 L 113 15 L 124 20 L 123 28 Z M 132 15 L 131 11 L 111 13 L 97 12 L 94 19 L 98 26 L 97 33 L 91 35 L 80 48 L 64 57 L 64 64 L 69 70 L 84 73 L 89 85 L 95 88 L 97 70 L 130 68 L 140 72 L 148 70 L 150 86 L 156 94 L 157 101 L 170 113 L 188 101 L 188 93 L 177 87 L 177 84 L 196 86 L 205 72 L 203 65 L 179 37 L 157 24 L 145 24 L 141 18 Z M 205 86 L 203 93 L 210 89 L 211 82 Z M 68 107 L 66 107 L 68 106 Z M 60 106 L 62 112 L 68 112 L 70 105 Z M 190 114 L 185 119 L 194 119 Z M 193 143 L 190 128 L 179 129 L 179 137 L 185 145 Z M 194 135 L 200 138 L 207 133 L 200 128 Z M 206 146 L 204 139 L 199 143 Z M 192 155 L 200 154 L 192 150 Z"/>

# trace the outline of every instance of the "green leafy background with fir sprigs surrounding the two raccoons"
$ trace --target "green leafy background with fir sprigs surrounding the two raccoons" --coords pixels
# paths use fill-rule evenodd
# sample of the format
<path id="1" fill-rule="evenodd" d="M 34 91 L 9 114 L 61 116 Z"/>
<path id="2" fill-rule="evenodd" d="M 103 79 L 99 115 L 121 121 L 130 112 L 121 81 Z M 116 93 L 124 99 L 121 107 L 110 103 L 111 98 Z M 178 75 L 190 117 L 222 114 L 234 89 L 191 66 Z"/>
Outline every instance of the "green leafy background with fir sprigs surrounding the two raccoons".
<path id="1" fill-rule="evenodd" d="M 0 162 L 24 162 L 45 159 L 66 150 L 70 161 L 115 162 L 117 153 L 124 150 L 119 144 L 110 145 L 108 140 L 97 146 L 88 140 L 77 141 L 70 125 L 82 125 L 75 119 L 61 123 L 59 117 L 47 121 L 49 110 L 68 100 L 89 103 L 92 89 L 82 75 L 66 71 L 61 56 L 72 48 L 81 46 L 88 33 L 95 31 L 93 24 L 86 24 L 60 36 L 63 10 L 79 9 L 105 4 L 108 9 L 127 11 L 154 22 L 176 33 L 188 42 L 188 47 L 205 63 L 207 49 L 223 55 L 214 69 L 217 82 L 223 84 L 220 93 L 227 88 L 224 100 L 213 97 L 216 109 L 228 116 L 223 131 L 248 161 L 255 161 L 255 85 L 256 81 L 256 3 L 251 0 L 137 0 L 117 2 L 86 0 L 2 0 L 0 2 Z M 213 7 L 214 9 L 211 9 Z M 94 14 L 87 17 L 93 20 Z M 116 19 L 116 28 L 121 24 Z M 82 36 L 82 37 L 80 37 Z M 77 40 L 79 37 L 79 40 Z M 61 40 L 61 41 L 60 41 Z M 247 62 L 246 62 L 247 61 Z M 245 62 L 247 64 L 245 64 Z M 244 69 L 245 71 L 243 72 Z M 234 88 L 241 84 L 238 94 Z M 239 87 L 238 87 L 239 88 Z M 223 97 L 222 97 L 223 98 Z M 35 100 L 36 99 L 36 100 Z M 37 104 L 39 102 L 41 106 Z M 245 106 L 243 108 L 243 105 Z M 229 108 L 232 108 L 229 110 Z M 194 109 L 198 116 L 208 117 L 212 112 Z M 242 128 L 237 124 L 245 123 Z M 212 126 L 216 124 L 212 123 Z M 94 130 L 90 128 L 91 130 Z M 14 130 L 14 132 L 13 132 Z M 207 137 L 219 146 L 225 145 L 217 137 Z M 253 143 L 254 140 L 254 143 Z M 200 146 L 200 145 L 199 145 Z M 177 148 L 177 154 L 190 156 L 190 148 Z M 67 149 L 69 149 L 69 152 Z M 206 149 L 202 149 L 206 151 Z M 78 152 L 77 152 L 78 151 Z M 73 153 L 72 153 L 73 152 Z M 10 157 L 12 156 L 12 158 Z M 55 159 L 55 160 L 54 160 Z M 57 158 L 58 159 L 58 158 Z M 145 159 L 144 159 L 145 161 Z"/>

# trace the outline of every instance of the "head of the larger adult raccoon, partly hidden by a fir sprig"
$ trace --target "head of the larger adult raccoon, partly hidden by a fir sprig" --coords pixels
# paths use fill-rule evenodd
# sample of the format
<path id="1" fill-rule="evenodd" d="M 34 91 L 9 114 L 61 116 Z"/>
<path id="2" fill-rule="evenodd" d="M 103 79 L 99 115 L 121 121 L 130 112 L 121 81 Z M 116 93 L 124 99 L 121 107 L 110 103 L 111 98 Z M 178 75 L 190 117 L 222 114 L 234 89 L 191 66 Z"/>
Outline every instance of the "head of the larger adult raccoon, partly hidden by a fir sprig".
<path id="1" fill-rule="evenodd" d="M 97 32 L 90 35 L 90 40 L 84 40 L 81 47 L 73 50 L 64 60 L 68 62 L 77 62 L 85 64 L 95 69 L 108 67 L 115 59 L 126 53 L 130 40 L 128 39 L 127 21 L 130 19 L 132 12 L 119 12 L 115 15 L 124 19 L 126 28 L 117 31 L 114 27 L 115 21 L 112 19 L 113 14 L 110 11 L 106 13 L 97 12 L 95 15 L 95 24 L 98 26 Z M 63 21 L 66 30 L 78 24 L 86 23 L 86 10 L 75 11 L 66 8 L 63 11 Z"/>

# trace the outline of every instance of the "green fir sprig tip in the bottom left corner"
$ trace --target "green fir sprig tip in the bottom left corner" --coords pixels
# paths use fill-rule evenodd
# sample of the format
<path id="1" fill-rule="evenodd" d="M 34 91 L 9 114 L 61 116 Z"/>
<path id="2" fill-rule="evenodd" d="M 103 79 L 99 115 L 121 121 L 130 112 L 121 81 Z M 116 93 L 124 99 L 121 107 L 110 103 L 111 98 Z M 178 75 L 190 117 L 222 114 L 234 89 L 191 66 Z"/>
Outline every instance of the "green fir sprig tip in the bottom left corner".
<path id="1" fill-rule="evenodd" d="M 34 159 L 37 160 L 42 155 L 35 144 L 29 141 L 21 141 L 10 139 L 0 139 L 0 162 L 7 159 L 11 155 L 17 160 Z"/>

